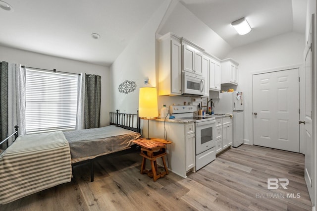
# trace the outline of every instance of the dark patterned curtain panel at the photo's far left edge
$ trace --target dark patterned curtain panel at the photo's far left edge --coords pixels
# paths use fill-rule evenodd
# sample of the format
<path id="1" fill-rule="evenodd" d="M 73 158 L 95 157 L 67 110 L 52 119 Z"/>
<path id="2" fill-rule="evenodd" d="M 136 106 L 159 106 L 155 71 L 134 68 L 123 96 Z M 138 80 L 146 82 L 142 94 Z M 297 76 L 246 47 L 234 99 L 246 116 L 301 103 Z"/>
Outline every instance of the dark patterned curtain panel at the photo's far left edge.
<path id="1" fill-rule="evenodd" d="M 8 63 L 0 63 L 0 141 L 7 137 L 8 133 Z M 6 149 L 6 145 L 0 146 Z"/>

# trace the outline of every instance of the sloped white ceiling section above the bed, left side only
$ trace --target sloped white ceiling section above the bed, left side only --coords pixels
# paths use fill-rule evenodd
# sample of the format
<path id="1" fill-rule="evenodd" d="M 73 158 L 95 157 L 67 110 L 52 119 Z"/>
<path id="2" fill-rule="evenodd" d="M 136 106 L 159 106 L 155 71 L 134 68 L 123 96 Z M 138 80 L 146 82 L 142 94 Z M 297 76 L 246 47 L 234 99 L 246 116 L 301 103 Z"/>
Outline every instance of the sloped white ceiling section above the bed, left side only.
<path id="1" fill-rule="evenodd" d="M 162 0 L 4 0 L 0 45 L 109 66 Z M 97 33 L 100 39 L 93 39 Z"/>

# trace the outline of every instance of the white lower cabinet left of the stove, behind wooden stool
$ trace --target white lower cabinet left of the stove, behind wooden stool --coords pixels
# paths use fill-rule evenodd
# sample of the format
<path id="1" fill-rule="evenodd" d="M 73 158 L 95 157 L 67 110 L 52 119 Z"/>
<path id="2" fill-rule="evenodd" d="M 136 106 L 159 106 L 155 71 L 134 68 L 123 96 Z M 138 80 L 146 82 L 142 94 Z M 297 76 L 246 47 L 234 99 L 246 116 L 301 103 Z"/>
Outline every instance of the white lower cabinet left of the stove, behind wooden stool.
<path id="1" fill-rule="evenodd" d="M 141 122 L 142 123 L 142 122 Z M 146 123 L 142 128 L 142 134 L 148 134 Z M 165 159 L 168 169 L 175 174 L 186 178 L 187 172 L 195 171 L 195 124 L 174 123 L 163 120 L 149 121 L 150 138 L 164 139 L 164 127 L 167 140 L 173 143 L 167 145 L 167 158 Z M 157 160 L 162 165 L 161 159 Z"/>

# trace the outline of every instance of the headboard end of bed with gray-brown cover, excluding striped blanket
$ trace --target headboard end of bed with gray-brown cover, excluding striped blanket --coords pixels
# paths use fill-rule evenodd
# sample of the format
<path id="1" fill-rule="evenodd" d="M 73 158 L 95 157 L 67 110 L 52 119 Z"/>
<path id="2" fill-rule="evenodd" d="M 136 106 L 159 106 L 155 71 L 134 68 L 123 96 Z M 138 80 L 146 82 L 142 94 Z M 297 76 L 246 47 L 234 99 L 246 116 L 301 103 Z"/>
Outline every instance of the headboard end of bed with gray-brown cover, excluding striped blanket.
<path id="1" fill-rule="evenodd" d="M 137 114 L 109 113 L 110 125 L 102 128 L 86 129 L 82 131 L 64 132 L 69 141 L 72 154 L 72 165 L 88 163 L 91 165 L 90 180 L 94 181 L 94 162 L 107 155 L 121 155 L 137 150 L 139 147 L 132 141 L 141 138 L 139 112 Z M 95 134 L 95 131 L 99 130 Z M 116 132 L 113 134 L 113 132 Z M 89 138 L 92 133 L 93 137 Z M 105 144 L 107 142 L 107 144 Z M 101 149 L 96 149 L 101 146 Z M 89 150 L 96 149 L 96 150 Z"/>

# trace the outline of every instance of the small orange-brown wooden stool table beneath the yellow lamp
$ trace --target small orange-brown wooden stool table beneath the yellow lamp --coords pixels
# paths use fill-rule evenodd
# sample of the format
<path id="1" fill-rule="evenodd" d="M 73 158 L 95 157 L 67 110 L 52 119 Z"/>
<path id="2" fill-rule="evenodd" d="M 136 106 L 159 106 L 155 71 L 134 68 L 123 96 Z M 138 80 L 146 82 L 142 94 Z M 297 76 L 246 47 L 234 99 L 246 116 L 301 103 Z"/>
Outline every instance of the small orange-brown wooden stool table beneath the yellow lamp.
<path id="1" fill-rule="evenodd" d="M 140 156 L 143 157 L 141 164 L 141 174 L 147 173 L 148 176 L 153 177 L 154 181 L 157 181 L 157 179 L 163 177 L 165 174 L 168 174 L 164 156 L 166 155 L 166 145 L 171 144 L 171 141 L 157 138 L 142 138 L 133 140 L 133 142 L 141 147 Z M 162 158 L 165 169 L 165 171 L 160 173 L 158 173 L 157 158 Z M 151 170 L 145 169 L 145 163 L 147 159 L 151 161 Z"/>

